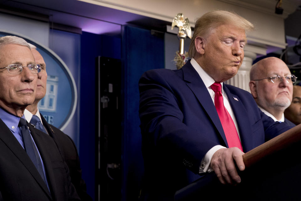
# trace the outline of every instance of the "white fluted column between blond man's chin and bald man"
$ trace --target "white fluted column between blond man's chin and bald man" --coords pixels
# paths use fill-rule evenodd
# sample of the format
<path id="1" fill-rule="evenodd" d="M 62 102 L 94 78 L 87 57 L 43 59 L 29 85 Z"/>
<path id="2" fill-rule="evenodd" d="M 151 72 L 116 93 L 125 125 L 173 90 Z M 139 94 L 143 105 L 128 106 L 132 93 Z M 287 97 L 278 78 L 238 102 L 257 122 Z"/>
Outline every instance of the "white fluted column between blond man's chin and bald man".
<path id="1" fill-rule="evenodd" d="M 225 83 L 250 92 L 250 70 L 254 59 L 256 59 L 256 53 L 245 51 L 244 60 L 237 74 L 233 78 L 227 80 Z"/>

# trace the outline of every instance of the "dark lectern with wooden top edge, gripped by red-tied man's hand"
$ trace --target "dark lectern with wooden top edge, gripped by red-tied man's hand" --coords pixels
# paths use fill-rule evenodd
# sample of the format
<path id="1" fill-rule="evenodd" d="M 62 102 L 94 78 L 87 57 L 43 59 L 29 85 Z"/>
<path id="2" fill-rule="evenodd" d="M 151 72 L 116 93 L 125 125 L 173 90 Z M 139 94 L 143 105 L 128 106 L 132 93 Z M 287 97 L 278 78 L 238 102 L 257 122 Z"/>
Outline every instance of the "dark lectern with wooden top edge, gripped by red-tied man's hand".
<path id="1" fill-rule="evenodd" d="M 241 183 L 223 185 L 214 172 L 175 193 L 175 200 L 301 200 L 301 124 L 246 152 Z"/>

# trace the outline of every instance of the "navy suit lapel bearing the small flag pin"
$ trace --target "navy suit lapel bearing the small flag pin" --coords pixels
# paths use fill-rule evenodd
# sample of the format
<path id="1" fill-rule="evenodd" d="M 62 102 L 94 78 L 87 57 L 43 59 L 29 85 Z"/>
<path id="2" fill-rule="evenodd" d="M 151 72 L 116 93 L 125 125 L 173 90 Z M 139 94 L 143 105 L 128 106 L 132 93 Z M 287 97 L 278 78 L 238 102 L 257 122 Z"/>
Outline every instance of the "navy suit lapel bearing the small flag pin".
<path id="1" fill-rule="evenodd" d="M 250 133 L 250 131 L 252 131 L 250 120 L 246 115 L 245 107 L 243 106 L 239 97 L 237 95 L 230 93 L 227 86 L 225 84 L 223 85 L 224 85 L 223 89 L 228 97 L 229 103 L 231 105 L 232 111 L 234 113 L 237 122 L 237 127 L 240 133 L 240 140 L 241 140 L 241 145 L 243 147 L 243 151 L 247 152 L 252 149 L 251 145 L 253 144 L 252 133 Z"/>

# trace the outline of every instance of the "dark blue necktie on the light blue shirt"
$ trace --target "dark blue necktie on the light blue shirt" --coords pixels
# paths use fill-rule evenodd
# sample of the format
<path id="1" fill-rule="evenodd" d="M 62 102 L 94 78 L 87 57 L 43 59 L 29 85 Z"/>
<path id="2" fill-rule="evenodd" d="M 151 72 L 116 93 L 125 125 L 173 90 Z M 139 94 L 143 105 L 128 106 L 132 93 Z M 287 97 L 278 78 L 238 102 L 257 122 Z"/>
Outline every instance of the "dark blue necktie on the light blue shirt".
<path id="1" fill-rule="evenodd" d="M 31 136 L 29 133 L 29 129 L 27 127 L 26 120 L 23 118 L 20 118 L 18 127 L 21 128 L 23 142 L 24 142 L 24 149 L 25 149 L 27 155 L 29 156 L 29 158 L 34 163 L 34 166 L 37 168 L 43 181 L 46 183 L 45 175 L 44 175 L 44 171 L 43 171 L 43 167 L 42 167 L 42 162 L 40 160 L 38 150 L 36 149 L 34 142 L 31 140 Z"/>

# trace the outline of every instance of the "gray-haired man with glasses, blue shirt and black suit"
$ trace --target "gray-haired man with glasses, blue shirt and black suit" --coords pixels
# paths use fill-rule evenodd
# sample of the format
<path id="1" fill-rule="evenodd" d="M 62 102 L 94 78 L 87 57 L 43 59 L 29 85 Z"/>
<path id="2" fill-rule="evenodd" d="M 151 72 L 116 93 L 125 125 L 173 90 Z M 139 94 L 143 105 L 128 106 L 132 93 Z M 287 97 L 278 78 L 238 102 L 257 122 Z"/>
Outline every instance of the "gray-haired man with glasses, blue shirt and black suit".
<path id="1" fill-rule="evenodd" d="M 55 141 L 26 122 L 36 64 L 26 41 L 0 37 L 0 200 L 80 200 Z"/>

